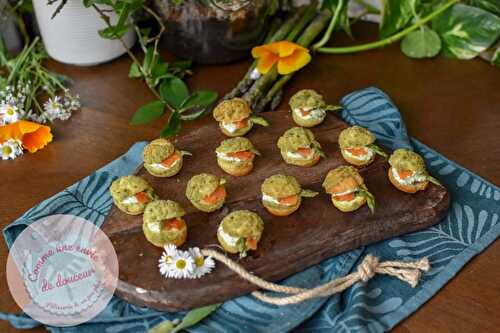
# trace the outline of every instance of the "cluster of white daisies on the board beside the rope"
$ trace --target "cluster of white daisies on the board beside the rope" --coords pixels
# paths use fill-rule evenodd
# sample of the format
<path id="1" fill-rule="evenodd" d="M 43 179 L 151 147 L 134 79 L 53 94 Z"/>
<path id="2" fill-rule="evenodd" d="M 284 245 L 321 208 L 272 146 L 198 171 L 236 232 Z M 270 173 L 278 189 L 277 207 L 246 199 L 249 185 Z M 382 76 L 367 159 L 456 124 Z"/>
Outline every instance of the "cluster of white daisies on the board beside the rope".
<path id="1" fill-rule="evenodd" d="M 182 251 L 169 244 L 165 246 L 158 267 L 161 275 L 166 278 L 198 279 L 210 273 L 215 262 L 212 257 L 203 256 L 197 247 Z"/>

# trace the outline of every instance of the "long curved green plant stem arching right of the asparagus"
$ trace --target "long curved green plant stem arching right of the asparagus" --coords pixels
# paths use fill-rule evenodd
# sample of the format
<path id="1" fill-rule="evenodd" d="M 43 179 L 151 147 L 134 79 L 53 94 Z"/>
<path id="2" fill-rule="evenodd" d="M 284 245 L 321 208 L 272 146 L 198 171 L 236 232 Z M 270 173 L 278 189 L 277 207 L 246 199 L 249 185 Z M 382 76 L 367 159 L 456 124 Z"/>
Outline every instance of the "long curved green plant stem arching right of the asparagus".
<path id="1" fill-rule="evenodd" d="M 397 34 L 394 34 L 394 35 L 387 37 L 385 39 L 382 39 L 382 40 L 379 40 L 376 42 L 372 42 L 372 43 L 368 43 L 368 44 L 356 45 L 356 46 L 321 47 L 321 48 L 318 48 L 316 51 L 320 52 L 320 53 L 329 53 L 329 54 L 346 54 L 346 53 L 355 53 L 355 52 L 373 50 L 373 49 L 376 49 L 379 47 L 383 47 L 383 46 L 392 44 L 392 43 L 400 40 L 401 38 L 403 38 L 404 36 L 406 36 L 410 32 L 423 26 L 424 24 L 426 24 L 427 22 L 429 22 L 430 20 L 432 20 L 436 16 L 442 14 L 445 10 L 447 10 L 448 8 L 450 8 L 451 6 L 453 6 L 454 4 L 456 4 L 458 2 L 459 2 L 459 0 L 448 1 L 446 4 L 444 4 L 443 6 L 441 6 L 440 8 L 435 10 L 434 12 L 432 12 L 431 14 L 427 15 L 426 17 L 424 17 L 421 20 L 416 21 L 412 26 L 410 26 L 404 30 L 401 30 Z"/>

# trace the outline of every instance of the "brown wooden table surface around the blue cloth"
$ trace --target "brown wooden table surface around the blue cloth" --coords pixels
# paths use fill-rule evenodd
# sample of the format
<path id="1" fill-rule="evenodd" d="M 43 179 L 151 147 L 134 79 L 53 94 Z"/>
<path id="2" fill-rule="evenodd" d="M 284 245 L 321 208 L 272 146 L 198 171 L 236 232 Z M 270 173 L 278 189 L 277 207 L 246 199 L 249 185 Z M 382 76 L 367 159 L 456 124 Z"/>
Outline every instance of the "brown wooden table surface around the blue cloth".
<path id="1" fill-rule="evenodd" d="M 373 40 L 376 29 L 368 23 L 358 24 L 354 34 L 360 43 Z M 336 43 L 353 41 L 339 35 Z M 169 58 L 166 53 L 164 56 Z M 197 66 L 189 85 L 224 94 L 239 81 L 248 64 Z M 130 61 L 126 56 L 96 67 L 50 66 L 73 78 L 73 89 L 84 107 L 69 121 L 55 124 L 55 140 L 44 150 L 0 162 L 2 228 L 38 202 L 125 153 L 134 142 L 155 138 L 166 120 L 141 127 L 128 124 L 137 107 L 153 96 L 141 82 L 127 78 Z M 284 98 L 288 100 L 298 89 L 313 88 L 335 103 L 354 90 L 379 87 L 399 107 L 413 137 L 500 184 L 499 74 L 500 69 L 481 60 L 411 60 L 400 52 L 399 45 L 392 45 L 355 55 L 317 55 L 287 86 Z M 188 124 L 184 130 L 208 121 L 210 117 Z M 2 267 L 6 258 L 7 247 L 0 242 Z M 499 262 L 497 241 L 394 331 L 498 331 Z M 19 311 L 7 288 L 4 269 L 0 271 L 0 311 Z M 0 322 L 0 332 L 15 331 Z M 38 328 L 32 332 L 46 331 Z"/>

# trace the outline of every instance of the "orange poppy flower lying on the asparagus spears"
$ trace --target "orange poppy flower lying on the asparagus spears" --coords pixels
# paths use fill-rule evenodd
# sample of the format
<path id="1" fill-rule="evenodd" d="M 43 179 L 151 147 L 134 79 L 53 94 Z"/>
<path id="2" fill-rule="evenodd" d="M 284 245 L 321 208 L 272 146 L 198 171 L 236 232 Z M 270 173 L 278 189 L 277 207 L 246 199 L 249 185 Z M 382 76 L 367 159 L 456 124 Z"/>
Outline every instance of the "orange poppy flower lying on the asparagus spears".
<path id="1" fill-rule="evenodd" d="M 257 70 L 261 74 L 269 72 L 275 64 L 278 64 L 278 73 L 290 74 L 311 61 L 308 49 L 286 40 L 256 46 L 252 56 L 257 59 Z"/>

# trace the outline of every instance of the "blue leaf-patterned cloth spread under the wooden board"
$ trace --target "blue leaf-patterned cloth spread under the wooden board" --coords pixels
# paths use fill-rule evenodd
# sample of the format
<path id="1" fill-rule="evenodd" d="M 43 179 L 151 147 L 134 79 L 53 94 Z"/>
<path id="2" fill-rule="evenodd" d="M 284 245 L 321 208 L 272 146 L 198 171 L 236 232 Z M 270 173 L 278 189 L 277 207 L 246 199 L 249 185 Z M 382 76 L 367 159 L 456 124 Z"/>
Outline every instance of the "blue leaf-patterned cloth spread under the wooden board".
<path id="1" fill-rule="evenodd" d="M 354 92 L 343 98 L 342 105 L 342 117 L 347 122 L 369 128 L 387 148 L 407 147 L 422 154 L 430 172 L 451 192 L 451 209 L 434 227 L 327 259 L 283 283 L 316 286 L 348 274 L 367 253 L 383 260 L 427 256 L 432 270 L 416 288 L 387 276 L 376 276 L 340 295 L 286 307 L 267 305 L 252 296 L 239 297 L 225 302 L 212 316 L 190 328 L 190 332 L 387 331 L 424 304 L 467 261 L 497 239 L 500 234 L 498 187 L 410 139 L 397 108 L 382 91 L 368 88 Z M 10 246 L 27 224 L 51 214 L 75 214 L 101 225 L 111 208 L 109 184 L 136 169 L 141 163 L 144 144 L 135 144 L 108 166 L 26 212 L 4 229 L 7 244 Z M 137 333 L 182 315 L 140 308 L 115 297 L 104 312 L 88 323 L 48 329 L 60 333 Z M 0 313 L 0 319 L 9 320 L 18 328 L 39 325 L 23 314 Z"/>

